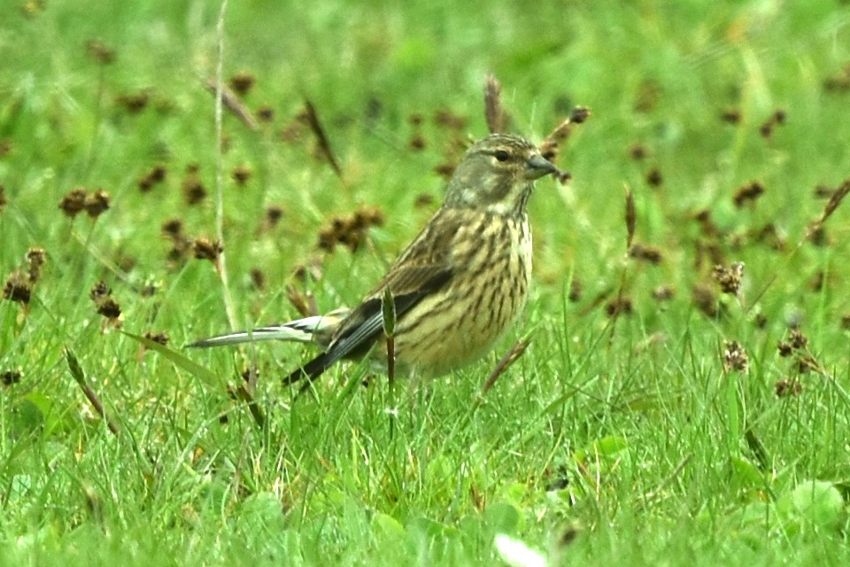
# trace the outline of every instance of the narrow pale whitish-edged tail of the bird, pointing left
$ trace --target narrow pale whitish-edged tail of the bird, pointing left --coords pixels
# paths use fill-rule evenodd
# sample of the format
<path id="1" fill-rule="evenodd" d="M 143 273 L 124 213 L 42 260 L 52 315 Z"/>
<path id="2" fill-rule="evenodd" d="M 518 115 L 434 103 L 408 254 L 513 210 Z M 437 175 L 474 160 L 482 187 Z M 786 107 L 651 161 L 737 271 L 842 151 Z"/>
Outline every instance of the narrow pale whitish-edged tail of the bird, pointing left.
<path id="1" fill-rule="evenodd" d="M 339 325 L 348 309 L 337 309 L 328 315 L 313 315 L 304 319 L 284 322 L 279 325 L 258 327 L 251 330 L 240 330 L 227 335 L 204 338 L 187 345 L 189 348 L 205 348 L 208 346 L 240 345 L 260 340 L 291 340 L 301 343 L 315 342 L 326 345 L 334 330 Z"/>

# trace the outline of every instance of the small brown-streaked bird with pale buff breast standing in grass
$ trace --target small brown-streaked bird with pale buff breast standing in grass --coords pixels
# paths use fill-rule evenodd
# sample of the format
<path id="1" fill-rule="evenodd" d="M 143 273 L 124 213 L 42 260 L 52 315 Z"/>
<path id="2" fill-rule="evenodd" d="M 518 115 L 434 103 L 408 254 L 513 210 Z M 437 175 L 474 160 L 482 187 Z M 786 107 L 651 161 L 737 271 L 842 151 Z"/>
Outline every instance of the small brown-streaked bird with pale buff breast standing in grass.
<path id="1" fill-rule="evenodd" d="M 283 339 L 321 353 L 283 378 L 311 383 L 337 361 L 387 361 L 384 306 L 394 307 L 394 366 L 437 377 L 489 353 L 522 314 L 531 284 L 527 205 L 537 179 L 558 172 L 521 136 L 491 134 L 455 168 L 442 206 L 359 305 L 205 338 L 189 347 Z"/>

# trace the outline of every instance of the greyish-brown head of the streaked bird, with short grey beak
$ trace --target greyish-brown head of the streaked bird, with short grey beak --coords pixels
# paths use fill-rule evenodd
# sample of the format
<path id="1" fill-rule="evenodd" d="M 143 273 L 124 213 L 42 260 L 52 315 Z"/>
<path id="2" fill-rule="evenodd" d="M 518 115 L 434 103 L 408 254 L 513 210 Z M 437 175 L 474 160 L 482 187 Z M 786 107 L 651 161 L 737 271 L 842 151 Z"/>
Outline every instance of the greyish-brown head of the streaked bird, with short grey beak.
<path id="1" fill-rule="evenodd" d="M 492 214 L 525 213 L 534 181 L 557 171 L 525 138 L 491 134 L 460 159 L 445 194 L 444 206 Z"/>

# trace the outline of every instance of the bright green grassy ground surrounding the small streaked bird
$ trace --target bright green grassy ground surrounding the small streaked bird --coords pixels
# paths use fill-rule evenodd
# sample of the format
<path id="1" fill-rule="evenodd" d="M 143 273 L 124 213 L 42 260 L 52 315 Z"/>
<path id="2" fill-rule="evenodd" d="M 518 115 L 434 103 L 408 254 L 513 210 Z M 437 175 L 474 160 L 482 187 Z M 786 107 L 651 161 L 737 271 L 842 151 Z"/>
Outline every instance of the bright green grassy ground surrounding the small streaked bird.
<path id="1" fill-rule="evenodd" d="M 560 156 L 573 182 L 532 199 L 528 351 L 483 396 L 496 353 L 398 400 L 357 365 L 294 400 L 298 346 L 183 351 L 229 324 L 186 247 L 216 237 L 219 6 L 5 2 L 0 276 L 32 289 L 0 301 L 0 563 L 499 564 L 497 534 L 550 564 L 847 563 L 846 205 L 815 223 L 850 176 L 846 3 L 339 4 L 228 7 L 224 77 L 272 114 L 223 121 L 234 323 L 297 316 L 287 283 L 322 309 L 367 291 L 486 134 L 492 71 L 537 141 L 593 113 Z M 649 260 L 626 253 L 626 187 Z M 109 209 L 69 218 L 75 188 Z M 317 250 L 371 206 L 356 252 Z M 738 261 L 723 293 L 713 267 Z"/>

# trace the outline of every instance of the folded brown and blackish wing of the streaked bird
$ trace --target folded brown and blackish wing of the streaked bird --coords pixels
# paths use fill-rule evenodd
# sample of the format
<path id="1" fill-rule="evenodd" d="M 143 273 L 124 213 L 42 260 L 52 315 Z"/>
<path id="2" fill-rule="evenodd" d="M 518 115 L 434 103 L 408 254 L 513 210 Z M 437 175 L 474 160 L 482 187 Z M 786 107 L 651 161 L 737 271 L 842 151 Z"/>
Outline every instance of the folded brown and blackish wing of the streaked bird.
<path id="1" fill-rule="evenodd" d="M 405 315 L 421 299 L 443 287 L 451 277 L 451 268 L 444 265 L 410 266 L 390 270 L 381 286 L 346 317 L 328 350 L 292 372 L 283 379 L 283 383 L 292 384 L 302 377 L 313 381 L 334 362 L 353 353 L 366 353 L 383 331 L 383 290 L 387 286 L 392 292 L 398 318 Z"/>

